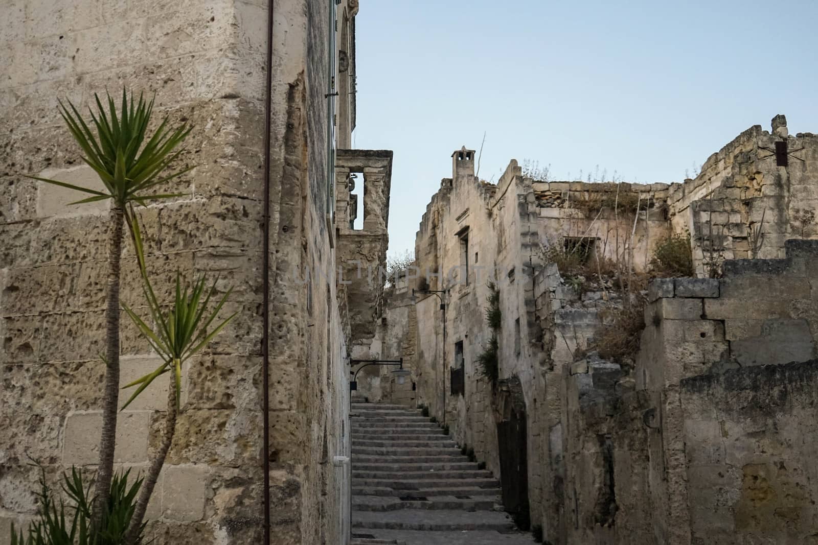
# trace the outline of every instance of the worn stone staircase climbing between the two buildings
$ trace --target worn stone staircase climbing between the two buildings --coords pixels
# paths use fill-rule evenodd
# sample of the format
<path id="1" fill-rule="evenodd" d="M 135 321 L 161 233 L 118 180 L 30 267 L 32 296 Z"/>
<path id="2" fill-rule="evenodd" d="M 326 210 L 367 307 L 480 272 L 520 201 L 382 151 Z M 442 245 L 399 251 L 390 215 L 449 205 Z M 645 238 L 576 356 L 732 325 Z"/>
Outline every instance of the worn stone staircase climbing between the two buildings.
<path id="1" fill-rule="evenodd" d="M 510 532 L 500 484 L 443 430 L 400 405 L 353 402 L 353 545 L 380 530 Z M 392 532 L 397 533 L 397 532 Z"/>

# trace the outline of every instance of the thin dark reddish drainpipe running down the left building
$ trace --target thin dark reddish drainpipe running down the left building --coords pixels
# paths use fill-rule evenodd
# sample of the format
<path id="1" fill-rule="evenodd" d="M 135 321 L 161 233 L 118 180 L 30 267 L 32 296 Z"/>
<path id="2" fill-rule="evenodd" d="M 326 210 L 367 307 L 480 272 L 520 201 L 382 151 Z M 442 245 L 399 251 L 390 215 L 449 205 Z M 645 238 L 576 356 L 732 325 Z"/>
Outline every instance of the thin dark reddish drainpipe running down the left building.
<path id="1" fill-rule="evenodd" d="M 270 141 L 272 136 L 272 23 L 275 2 L 267 4 L 267 81 L 264 87 L 264 203 L 262 234 L 262 457 L 264 545 L 270 544 Z"/>

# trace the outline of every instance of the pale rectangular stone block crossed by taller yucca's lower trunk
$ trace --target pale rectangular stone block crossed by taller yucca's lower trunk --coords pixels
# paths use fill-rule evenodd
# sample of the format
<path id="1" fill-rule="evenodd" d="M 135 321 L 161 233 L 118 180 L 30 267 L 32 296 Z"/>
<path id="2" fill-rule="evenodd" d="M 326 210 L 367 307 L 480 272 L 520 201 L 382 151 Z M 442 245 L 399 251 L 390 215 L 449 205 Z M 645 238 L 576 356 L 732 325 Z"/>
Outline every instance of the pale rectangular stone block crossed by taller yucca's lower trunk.
<path id="1" fill-rule="evenodd" d="M 151 413 L 119 413 L 114 461 L 147 462 L 150 426 Z M 63 463 L 78 466 L 96 464 L 99 461 L 101 427 L 102 413 L 99 412 L 74 413 L 65 418 Z"/>

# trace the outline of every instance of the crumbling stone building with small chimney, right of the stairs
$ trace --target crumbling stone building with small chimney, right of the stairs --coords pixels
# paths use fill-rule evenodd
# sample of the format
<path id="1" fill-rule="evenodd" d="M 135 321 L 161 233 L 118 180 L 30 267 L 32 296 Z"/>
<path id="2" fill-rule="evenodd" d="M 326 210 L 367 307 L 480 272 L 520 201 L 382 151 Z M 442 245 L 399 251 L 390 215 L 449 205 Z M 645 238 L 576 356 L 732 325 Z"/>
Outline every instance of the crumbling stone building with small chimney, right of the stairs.
<path id="1" fill-rule="evenodd" d="M 412 347 L 417 403 L 546 543 L 814 539 L 818 243 L 802 239 L 816 238 L 818 137 L 790 136 L 783 116 L 772 128 L 670 185 L 534 181 L 515 161 L 492 185 L 474 151 L 452 154 L 381 338 Z M 698 278 L 650 284 L 635 358 L 589 353 L 630 296 L 579 288 L 548 248 L 640 271 L 686 232 Z M 412 288 L 445 305 L 434 293 L 411 305 Z M 497 382 L 479 364 L 492 333 Z"/>

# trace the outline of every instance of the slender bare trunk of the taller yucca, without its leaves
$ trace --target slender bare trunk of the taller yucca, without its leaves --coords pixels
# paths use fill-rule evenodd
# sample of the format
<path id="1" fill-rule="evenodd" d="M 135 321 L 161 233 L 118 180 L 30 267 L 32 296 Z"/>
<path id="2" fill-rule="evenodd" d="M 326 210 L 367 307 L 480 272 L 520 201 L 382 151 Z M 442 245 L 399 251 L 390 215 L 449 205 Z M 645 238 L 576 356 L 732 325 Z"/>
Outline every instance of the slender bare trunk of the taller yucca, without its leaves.
<path id="1" fill-rule="evenodd" d="M 97 467 L 94 521 L 99 525 L 108 508 L 110 480 L 114 474 L 116 416 L 119 404 L 119 258 L 122 255 L 123 208 L 110 209 L 110 247 L 108 248 L 108 307 L 106 310 L 106 373 L 102 404 L 100 461 Z M 97 526 L 98 527 L 98 526 Z"/>

